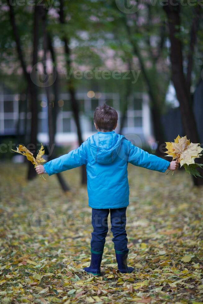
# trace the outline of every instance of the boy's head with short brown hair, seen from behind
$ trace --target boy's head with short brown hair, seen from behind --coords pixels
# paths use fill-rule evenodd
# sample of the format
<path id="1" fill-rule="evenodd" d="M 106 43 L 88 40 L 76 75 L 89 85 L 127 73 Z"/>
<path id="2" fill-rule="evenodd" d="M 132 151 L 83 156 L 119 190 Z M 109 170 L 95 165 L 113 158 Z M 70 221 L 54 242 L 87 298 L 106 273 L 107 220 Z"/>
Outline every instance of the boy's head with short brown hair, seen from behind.
<path id="1" fill-rule="evenodd" d="M 112 131 L 117 126 L 118 113 L 109 105 L 99 105 L 94 112 L 93 120 L 97 130 Z"/>

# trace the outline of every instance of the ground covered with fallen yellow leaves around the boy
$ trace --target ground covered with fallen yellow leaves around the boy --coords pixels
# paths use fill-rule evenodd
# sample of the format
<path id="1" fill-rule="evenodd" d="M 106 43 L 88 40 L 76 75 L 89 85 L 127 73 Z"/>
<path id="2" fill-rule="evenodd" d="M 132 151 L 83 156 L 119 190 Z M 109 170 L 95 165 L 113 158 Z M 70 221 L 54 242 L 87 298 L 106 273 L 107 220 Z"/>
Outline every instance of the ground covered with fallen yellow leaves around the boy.
<path id="1" fill-rule="evenodd" d="M 23 164 L 1 164 L 1 303 L 203 303 L 203 188 L 129 166 L 129 266 L 117 273 L 109 231 L 101 277 L 90 261 L 91 208 L 80 169 L 26 181 Z M 110 226 L 110 225 L 109 225 Z M 110 229 L 109 229 L 110 230 Z"/>

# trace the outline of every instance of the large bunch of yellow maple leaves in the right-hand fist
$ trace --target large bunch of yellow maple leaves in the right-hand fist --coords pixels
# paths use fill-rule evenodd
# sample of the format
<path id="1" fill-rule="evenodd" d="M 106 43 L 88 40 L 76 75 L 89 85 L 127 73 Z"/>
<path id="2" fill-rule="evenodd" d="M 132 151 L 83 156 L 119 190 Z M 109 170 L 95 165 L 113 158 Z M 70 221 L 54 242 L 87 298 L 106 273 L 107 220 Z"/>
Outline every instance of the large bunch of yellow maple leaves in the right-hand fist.
<path id="1" fill-rule="evenodd" d="M 201 177 L 197 168 L 202 168 L 203 164 L 195 163 L 195 159 L 202 156 L 202 148 L 200 144 L 194 144 L 187 139 L 187 136 L 176 137 L 174 142 L 166 142 L 166 149 L 168 155 L 173 159 L 176 159 L 180 166 L 185 168 L 185 171 L 193 176 Z"/>

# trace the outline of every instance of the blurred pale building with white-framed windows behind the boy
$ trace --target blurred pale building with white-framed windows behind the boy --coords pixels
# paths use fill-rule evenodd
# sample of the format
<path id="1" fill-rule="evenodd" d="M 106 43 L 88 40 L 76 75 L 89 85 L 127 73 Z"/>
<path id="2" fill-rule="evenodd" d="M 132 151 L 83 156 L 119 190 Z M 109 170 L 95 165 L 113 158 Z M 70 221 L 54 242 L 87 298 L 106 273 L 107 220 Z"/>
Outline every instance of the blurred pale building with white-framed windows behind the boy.
<path id="1" fill-rule="evenodd" d="M 89 96 L 89 97 L 88 97 Z M 25 94 L 8 94 L 1 86 L 0 91 L 0 134 L 2 136 L 25 135 L 29 132 L 31 112 L 26 110 Z M 48 143 L 48 107 L 46 94 L 38 96 L 38 141 Z M 80 107 L 80 121 L 84 140 L 97 132 L 93 123 L 93 114 L 98 105 L 106 104 L 113 106 L 120 117 L 119 93 L 116 92 L 77 92 L 76 99 Z M 151 138 L 153 131 L 151 127 L 151 115 L 148 95 L 146 93 L 135 93 L 129 96 L 127 117 L 122 132 L 124 134 L 135 133 L 142 140 Z M 77 141 L 77 129 L 72 115 L 70 96 L 61 93 L 58 100 L 58 115 L 56 120 L 56 144 L 70 144 Z M 116 131 L 120 130 L 120 119 Z"/>

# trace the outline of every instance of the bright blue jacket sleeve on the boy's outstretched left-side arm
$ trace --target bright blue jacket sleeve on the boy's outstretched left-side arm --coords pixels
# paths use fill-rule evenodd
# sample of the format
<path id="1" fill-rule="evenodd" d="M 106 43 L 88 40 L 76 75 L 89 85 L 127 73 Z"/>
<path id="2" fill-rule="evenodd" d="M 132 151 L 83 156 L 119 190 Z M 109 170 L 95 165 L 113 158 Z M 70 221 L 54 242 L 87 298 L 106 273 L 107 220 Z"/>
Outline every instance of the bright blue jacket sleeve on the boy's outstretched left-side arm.
<path id="1" fill-rule="evenodd" d="M 48 175 L 59 173 L 65 170 L 73 169 L 87 163 L 87 154 L 85 143 L 68 154 L 62 155 L 56 159 L 45 163 L 44 169 Z"/>

